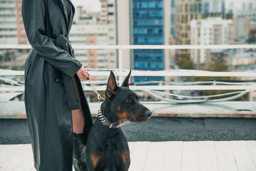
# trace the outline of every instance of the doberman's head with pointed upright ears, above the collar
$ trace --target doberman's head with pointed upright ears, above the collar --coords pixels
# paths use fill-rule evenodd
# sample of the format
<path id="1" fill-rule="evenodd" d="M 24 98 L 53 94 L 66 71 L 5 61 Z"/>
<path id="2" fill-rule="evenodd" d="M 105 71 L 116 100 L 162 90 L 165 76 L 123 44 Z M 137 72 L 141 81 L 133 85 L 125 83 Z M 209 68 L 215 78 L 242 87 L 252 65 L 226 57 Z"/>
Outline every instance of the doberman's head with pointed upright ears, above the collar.
<path id="1" fill-rule="evenodd" d="M 131 72 L 131 71 L 130 71 Z M 138 96 L 129 88 L 130 72 L 123 81 L 122 86 L 117 86 L 116 77 L 111 71 L 106 88 L 108 107 L 105 110 L 106 116 L 113 123 L 123 120 L 141 123 L 147 121 L 152 112 L 139 103 Z"/>

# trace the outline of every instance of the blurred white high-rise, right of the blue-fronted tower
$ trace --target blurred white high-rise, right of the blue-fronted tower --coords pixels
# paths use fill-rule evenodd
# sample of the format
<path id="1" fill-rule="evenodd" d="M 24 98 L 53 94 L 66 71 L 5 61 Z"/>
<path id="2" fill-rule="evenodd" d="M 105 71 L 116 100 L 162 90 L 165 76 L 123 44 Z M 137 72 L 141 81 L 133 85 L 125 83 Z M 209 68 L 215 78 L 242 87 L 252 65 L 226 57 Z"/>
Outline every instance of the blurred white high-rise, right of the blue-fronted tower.
<path id="1" fill-rule="evenodd" d="M 232 19 L 208 17 L 190 22 L 190 44 L 192 45 L 222 45 L 235 43 L 235 24 Z M 190 58 L 195 68 L 204 69 L 214 61 L 207 49 L 190 51 Z"/>

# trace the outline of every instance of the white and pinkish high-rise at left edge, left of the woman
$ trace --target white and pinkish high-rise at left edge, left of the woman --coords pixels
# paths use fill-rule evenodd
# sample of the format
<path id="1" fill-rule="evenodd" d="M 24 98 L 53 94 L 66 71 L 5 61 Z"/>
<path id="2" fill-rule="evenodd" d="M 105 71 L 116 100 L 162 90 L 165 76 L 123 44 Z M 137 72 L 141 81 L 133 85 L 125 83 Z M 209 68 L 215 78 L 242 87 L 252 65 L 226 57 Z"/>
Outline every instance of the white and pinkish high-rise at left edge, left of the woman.
<path id="1" fill-rule="evenodd" d="M 0 44 L 28 44 L 21 0 L 0 1 Z M 24 69 L 28 50 L 0 49 L 0 68 Z"/>

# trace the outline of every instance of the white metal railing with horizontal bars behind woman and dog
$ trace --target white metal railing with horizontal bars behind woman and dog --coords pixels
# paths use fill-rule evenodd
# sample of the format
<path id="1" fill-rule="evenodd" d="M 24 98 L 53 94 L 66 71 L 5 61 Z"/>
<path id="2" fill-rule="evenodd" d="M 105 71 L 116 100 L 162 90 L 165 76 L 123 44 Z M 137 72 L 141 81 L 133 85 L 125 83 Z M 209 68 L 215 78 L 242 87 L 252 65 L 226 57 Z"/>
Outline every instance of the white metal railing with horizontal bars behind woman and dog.
<path id="1" fill-rule="evenodd" d="M 29 45 L 0 45 L 1 48 L 11 48 L 11 49 L 29 49 Z M 256 48 L 256 45 L 171 45 L 171 46 L 147 46 L 147 45 L 116 45 L 116 46 L 88 46 L 88 45 L 74 45 L 73 48 L 76 49 L 117 49 L 118 50 L 118 68 L 111 69 L 114 71 L 115 75 L 118 76 L 118 82 L 122 83 L 123 77 L 128 74 L 128 70 L 123 70 L 123 50 L 125 49 L 227 49 L 227 48 Z M 109 76 L 109 71 L 107 69 L 91 69 L 91 76 Z M 0 71 L 1 76 L 24 76 L 24 71 Z M 163 76 L 163 77 L 174 77 L 174 76 L 186 76 L 186 77 L 245 77 L 245 78 L 256 78 L 256 72 L 211 72 L 211 71 L 196 71 L 196 70 L 169 70 L 169 71 L 132 71 L 131 76 Z M 86 81 L 85 81 L 86 83 Z M 96 82 L 93 82 L 97 84 Z M 88 84 L 88 83 L 86 83 Z M 220 84 L 220 85 L 217 85 Z M 105 90 L 106 86 L 96 86 L 97 90 Z M 132 90 L 245 90 L 252 91 L 256 90 L 255 83 L 240 83 L 240 84 L 228 84 L 224 83 L 212 83 L 208 86 L 205 85 L 185 85 L 185 84 L 165 84 L 163 86 L 130 86 Z M 90 86 L 85 86 L 84 90 L 91 90 Z M 0 92 L 4 91 L 24 91 L 24 86 L 1 86 Z"/>

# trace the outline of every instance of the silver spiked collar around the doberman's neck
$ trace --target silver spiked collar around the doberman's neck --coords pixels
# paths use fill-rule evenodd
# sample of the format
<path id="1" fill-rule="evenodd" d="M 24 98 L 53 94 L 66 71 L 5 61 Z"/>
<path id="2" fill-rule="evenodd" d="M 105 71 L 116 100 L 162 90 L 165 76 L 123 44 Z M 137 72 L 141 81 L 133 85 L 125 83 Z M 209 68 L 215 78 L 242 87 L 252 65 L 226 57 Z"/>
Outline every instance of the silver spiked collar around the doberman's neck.
<path id="1" fill-rule="evenodd" d="M 101 121 L 101 123 L 108 128 L 115 129 L 115 128 L 120 128 L 123 125 L 128 125 L 130 124 L 130 120 L 123 120 L 120 123 L 111 123 L 109 120 L 106 118 L 105 115 L 103 115 L 101 108 L 98 110 L 98 119 Z"/>

